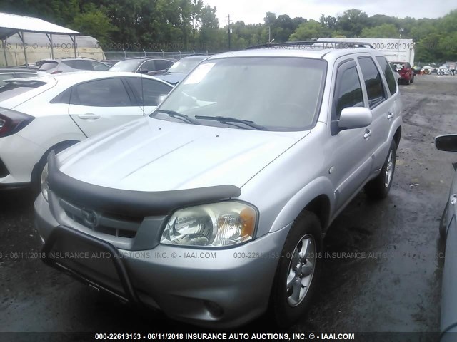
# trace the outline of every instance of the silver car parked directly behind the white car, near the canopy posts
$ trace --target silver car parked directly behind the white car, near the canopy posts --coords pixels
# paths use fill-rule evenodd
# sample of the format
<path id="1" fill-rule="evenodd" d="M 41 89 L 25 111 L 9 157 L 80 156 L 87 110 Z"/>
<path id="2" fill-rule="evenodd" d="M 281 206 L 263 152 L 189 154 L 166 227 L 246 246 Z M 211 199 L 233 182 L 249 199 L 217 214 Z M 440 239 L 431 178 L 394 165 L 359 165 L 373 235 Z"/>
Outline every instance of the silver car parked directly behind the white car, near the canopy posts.
<path id="1" fill-rule="evenodd" d="M 36 62 L 39 64 L 39 71 L 46 73 L 71 73 L 74 71 L 106 71 L 109 66 L 91 58 L 58 58 L 45 59 Z"/>

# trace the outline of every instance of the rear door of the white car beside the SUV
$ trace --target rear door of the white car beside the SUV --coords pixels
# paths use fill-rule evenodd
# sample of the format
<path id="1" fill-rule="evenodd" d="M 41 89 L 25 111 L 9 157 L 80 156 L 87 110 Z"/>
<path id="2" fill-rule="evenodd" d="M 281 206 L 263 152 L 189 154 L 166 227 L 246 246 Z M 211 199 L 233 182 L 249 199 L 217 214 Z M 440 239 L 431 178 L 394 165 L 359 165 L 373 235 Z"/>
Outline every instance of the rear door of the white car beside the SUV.
<path id="1" fill-rule="evenodd" d="M 143 115 L 121 78 L 102 78 L 71 88 L 69 115 L 88 137 Z"/>

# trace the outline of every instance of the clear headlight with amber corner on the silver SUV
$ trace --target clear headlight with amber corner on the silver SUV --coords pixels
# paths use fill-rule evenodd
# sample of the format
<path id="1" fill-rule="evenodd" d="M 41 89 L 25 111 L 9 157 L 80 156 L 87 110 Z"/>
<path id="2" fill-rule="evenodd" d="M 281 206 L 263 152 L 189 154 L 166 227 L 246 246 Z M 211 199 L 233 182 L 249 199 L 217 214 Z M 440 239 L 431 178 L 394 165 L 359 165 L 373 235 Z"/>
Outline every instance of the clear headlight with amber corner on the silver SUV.
<path id="1" fill-rule="evenodd" d="M 181 246 L 231 246 L 251 240 L 256 221 L 256 210 L 241 202 L 199 205 L 175 212 L 160 242 Z"/>

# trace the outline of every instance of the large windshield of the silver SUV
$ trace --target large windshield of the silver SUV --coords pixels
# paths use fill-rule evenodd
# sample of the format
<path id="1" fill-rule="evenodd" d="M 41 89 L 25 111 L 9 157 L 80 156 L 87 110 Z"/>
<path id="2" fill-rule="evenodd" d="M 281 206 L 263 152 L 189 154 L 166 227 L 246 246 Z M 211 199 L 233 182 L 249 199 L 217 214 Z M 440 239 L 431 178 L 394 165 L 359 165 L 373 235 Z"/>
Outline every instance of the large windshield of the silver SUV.
<path id="1" fill-rule="evenodd" d="M 268 130 L 306 130 L 320 106 L 325 74 L 326 62 L 311 58 L 214 59 L 181 81 L 160 109 L 189 118 L 248 120 Z M 151 116 L 168 117 L 158 112 Z M 214 120 L 199 120 L 214 125 Z"/>

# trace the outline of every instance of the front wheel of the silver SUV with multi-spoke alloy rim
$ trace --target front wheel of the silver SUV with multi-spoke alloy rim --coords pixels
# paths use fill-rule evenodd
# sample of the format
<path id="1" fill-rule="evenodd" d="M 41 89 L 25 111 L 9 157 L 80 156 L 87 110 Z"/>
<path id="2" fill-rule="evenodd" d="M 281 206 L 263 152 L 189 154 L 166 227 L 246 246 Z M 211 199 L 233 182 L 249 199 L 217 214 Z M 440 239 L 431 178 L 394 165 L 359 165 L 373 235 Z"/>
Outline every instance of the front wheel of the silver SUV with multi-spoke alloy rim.
<path id="1" fill-rule="evenodd" d="M 278 326 L 291 326 L 308 309 L 321 274 L 321 250 L 321 222 L 316 214 L 305 211 L 288 233 L 271 290 Z"/>

